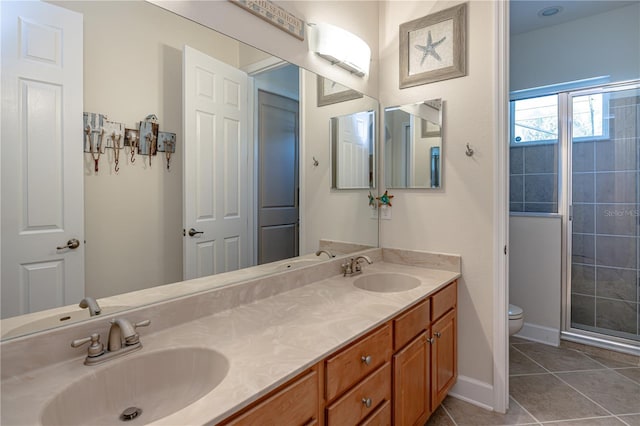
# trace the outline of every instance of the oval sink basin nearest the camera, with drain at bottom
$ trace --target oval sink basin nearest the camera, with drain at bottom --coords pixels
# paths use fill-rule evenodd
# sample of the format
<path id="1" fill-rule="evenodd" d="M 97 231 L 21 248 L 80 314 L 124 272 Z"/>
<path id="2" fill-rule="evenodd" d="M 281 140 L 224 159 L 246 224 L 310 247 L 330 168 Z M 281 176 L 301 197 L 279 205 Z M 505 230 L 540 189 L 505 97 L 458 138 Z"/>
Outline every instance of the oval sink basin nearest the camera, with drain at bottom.
<path id="1" fill-rule="evenodd" d="M 146 424 L 194 403 L 227 375 L 229 361 L 204 348 L 176 348 L 107 361 L 58 393 L 44 408 L 42 425 L 114 425 L 122 413 L 142 410 L 124 424 Z M 81 372 L 86 373 L 86 372 Z M 79 373 L 80 374 L 80 373 Z M 132 410 L 133 411 L 133 410 Z"/>

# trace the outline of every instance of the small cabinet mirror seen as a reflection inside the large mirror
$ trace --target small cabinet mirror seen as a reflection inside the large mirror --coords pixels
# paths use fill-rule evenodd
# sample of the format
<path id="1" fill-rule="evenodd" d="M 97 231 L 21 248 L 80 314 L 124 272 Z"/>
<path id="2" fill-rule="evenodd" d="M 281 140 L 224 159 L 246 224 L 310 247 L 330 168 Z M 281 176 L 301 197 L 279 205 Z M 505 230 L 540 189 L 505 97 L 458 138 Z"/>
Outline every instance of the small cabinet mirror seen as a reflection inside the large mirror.
<path id="1" fill-rule="evenodd" d="M 375 188 L 375 111 L 331 117 L 331 188 Z"/>

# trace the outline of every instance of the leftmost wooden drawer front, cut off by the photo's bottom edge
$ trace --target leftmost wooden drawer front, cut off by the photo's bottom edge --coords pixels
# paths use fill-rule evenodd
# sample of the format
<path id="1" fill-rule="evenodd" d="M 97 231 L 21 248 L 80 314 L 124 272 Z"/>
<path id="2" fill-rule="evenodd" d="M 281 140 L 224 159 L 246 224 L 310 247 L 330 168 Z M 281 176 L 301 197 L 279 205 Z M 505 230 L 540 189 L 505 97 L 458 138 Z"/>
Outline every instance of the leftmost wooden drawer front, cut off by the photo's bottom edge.
<path id="1" fill-rule="evenodd" d="M 317 424 L 318 401 L 318 372 L 313 369 L 225 425 Z"/>

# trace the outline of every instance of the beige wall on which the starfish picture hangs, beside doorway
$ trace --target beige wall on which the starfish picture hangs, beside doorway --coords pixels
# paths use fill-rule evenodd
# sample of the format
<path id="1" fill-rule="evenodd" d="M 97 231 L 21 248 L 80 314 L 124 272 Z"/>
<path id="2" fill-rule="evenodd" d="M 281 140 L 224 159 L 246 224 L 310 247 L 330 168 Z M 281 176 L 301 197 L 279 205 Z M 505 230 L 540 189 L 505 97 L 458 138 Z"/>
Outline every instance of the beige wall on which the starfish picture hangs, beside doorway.
<path id="1" fill-rule="evenodd" d="M 442 190 L 392 190 L 393 215 L 381 221 L 383 247 L 462 255 L 458 362 L 461 379 L 493 383 L 493 131 L 497 73 L 494 3 L 468 3 L 466 77 L 398 88 L 398 26 L 460 2 L 391 1 L 380 5 L 382 106 L 444 101 Z M 465 155 L 465 144 L 475 150 Z M 499 171 L 496 171 L 499 172 Z M 384 188 L 381 188 L 384 191 Z M 460 380 L 459 380 L 460 382 Z M 492 399 L 490 396 L 489 400 Z"/>

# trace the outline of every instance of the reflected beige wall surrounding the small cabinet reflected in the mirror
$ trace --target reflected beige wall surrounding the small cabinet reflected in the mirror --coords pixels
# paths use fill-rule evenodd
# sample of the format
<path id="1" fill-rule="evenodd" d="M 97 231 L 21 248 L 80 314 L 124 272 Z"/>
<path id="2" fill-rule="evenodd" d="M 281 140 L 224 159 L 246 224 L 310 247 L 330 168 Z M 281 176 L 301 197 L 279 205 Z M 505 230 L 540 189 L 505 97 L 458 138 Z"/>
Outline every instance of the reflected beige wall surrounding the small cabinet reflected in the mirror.
<path id="1" fill-rule="evenodd" d="M 368 189 L 331 189 L 331 117 L 359 111 L 376 111 L 378 101 L 365 96 L 346 102 L 317 107 L 316 75 L 304 71 L 302 135 L 300 157 L 301 200 L 301 253 L 318 249 L 321 238 L 348 241 L 365 245 L 378 245 L 378 220 L 372 219 Z M 313 158 L 318 167 L 313 167 Z M 375 190 L 372 191 L 375 193 Z"/>

